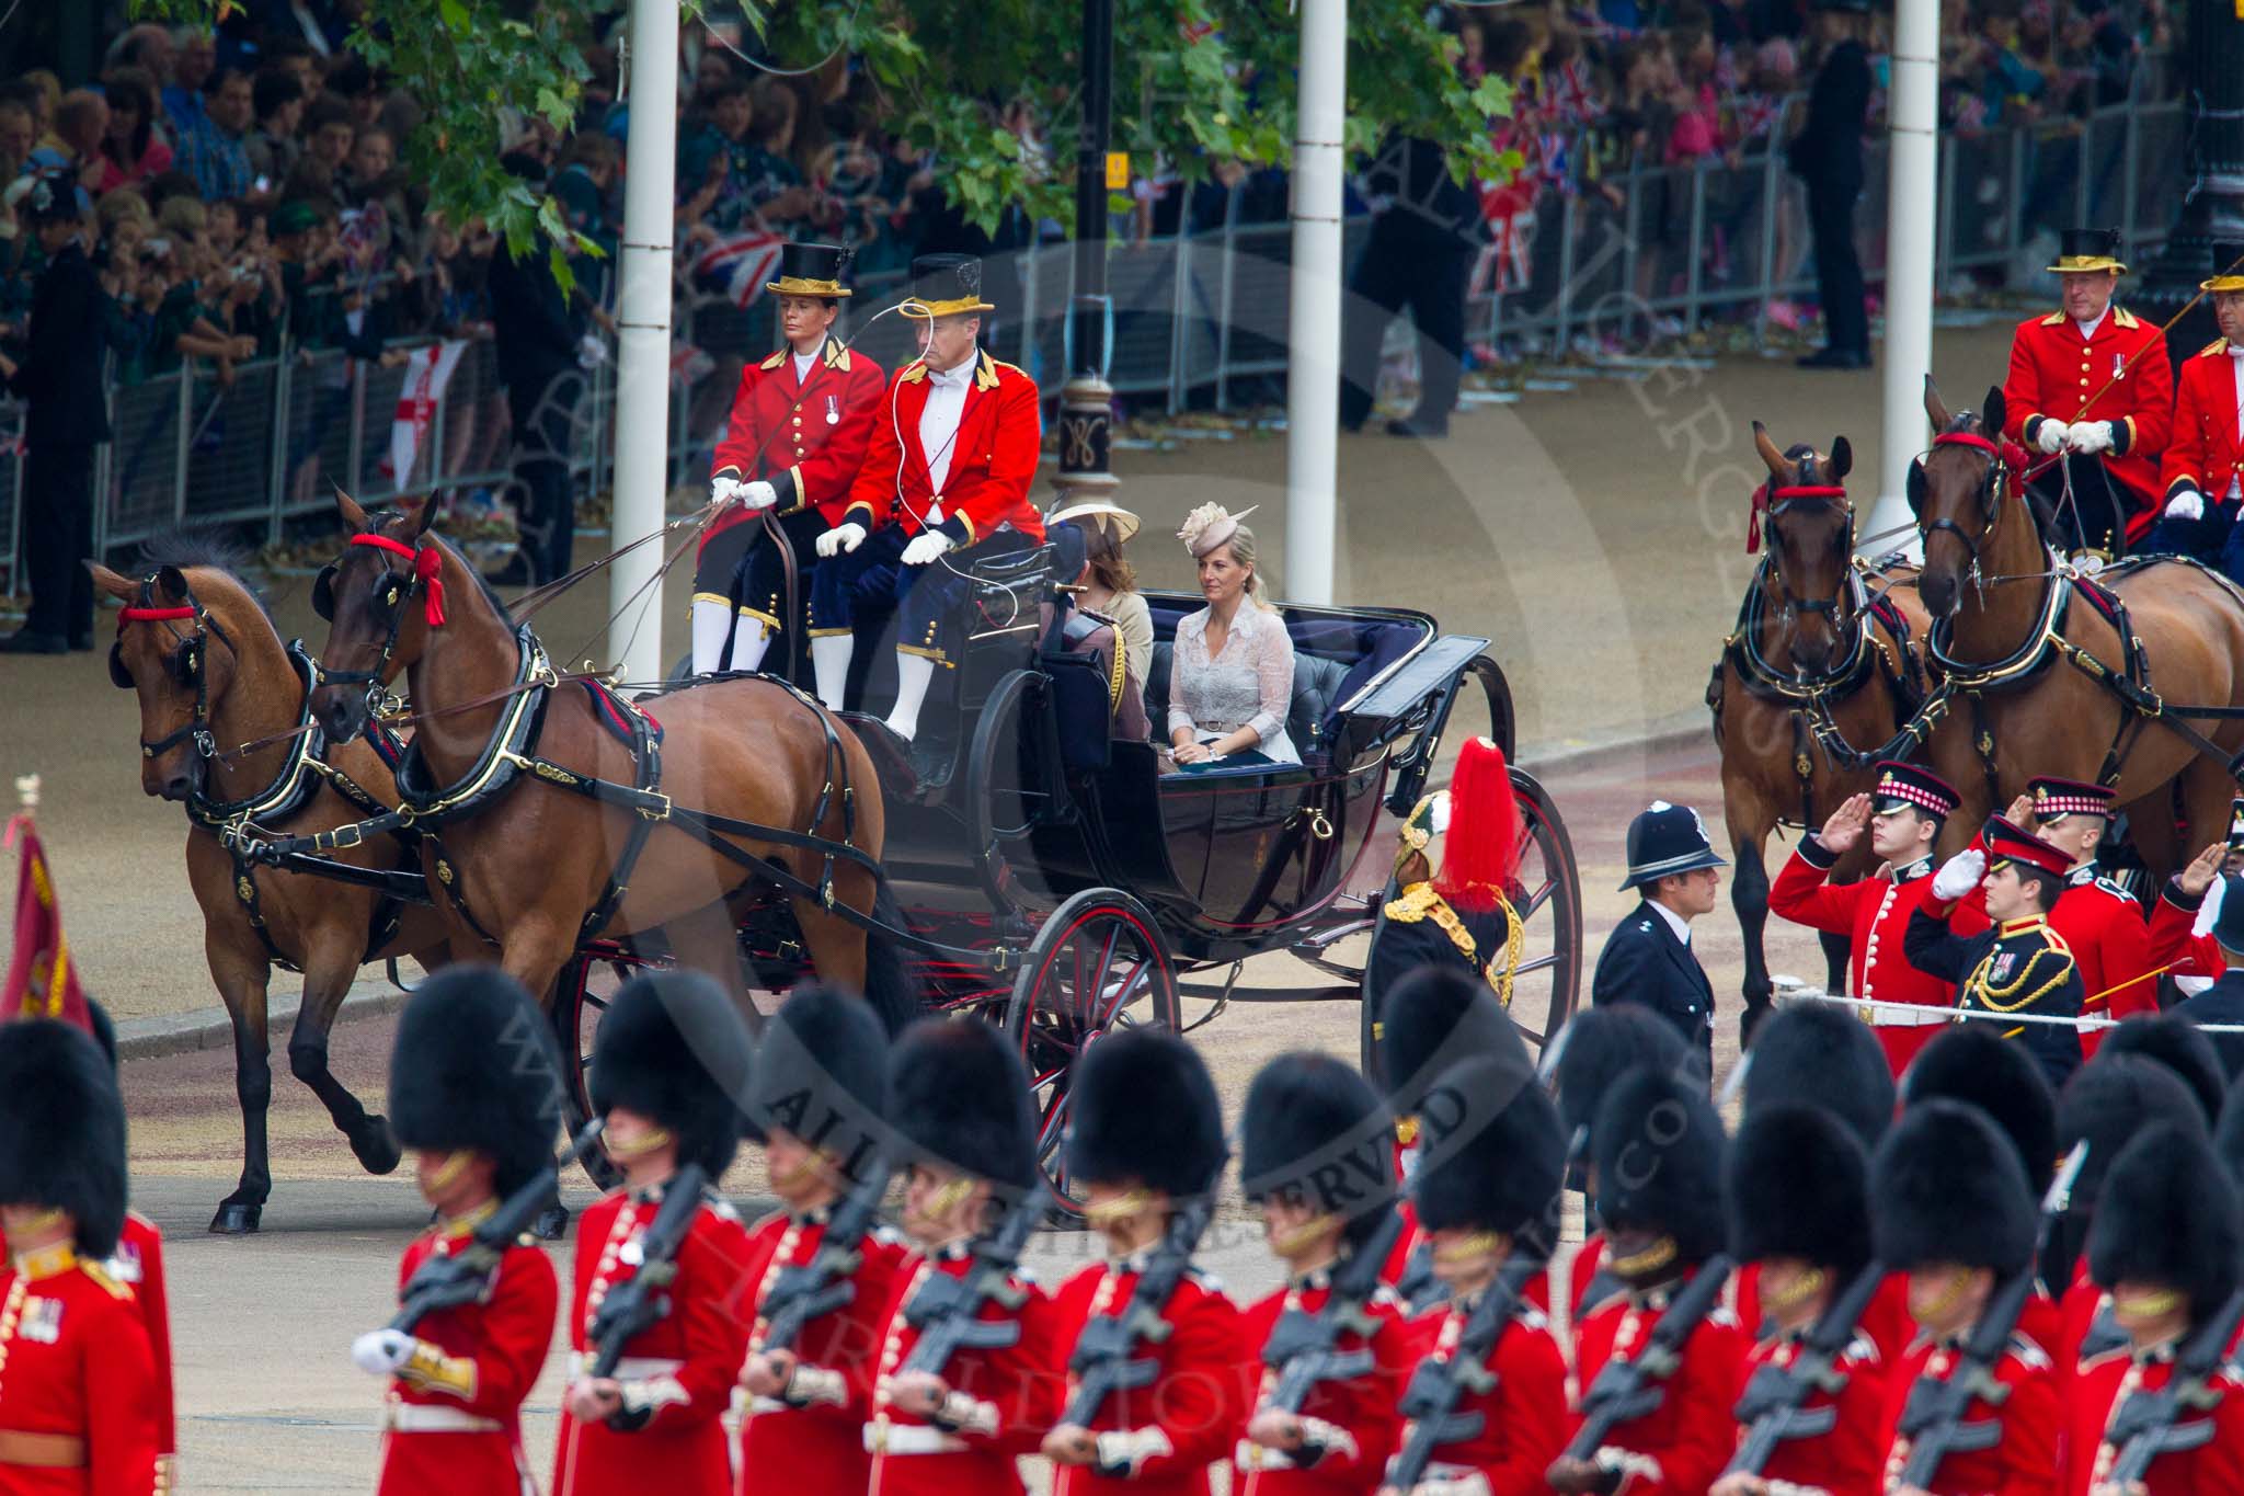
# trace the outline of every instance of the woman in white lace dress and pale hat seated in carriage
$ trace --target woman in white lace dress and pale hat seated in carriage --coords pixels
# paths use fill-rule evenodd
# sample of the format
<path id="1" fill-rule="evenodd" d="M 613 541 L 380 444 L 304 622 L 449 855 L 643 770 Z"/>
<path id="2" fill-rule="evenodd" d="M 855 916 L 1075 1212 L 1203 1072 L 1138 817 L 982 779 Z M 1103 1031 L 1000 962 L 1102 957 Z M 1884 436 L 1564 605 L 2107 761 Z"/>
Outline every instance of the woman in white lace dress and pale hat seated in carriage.
<path id="1" fill-rule="evenodd" d="M 1254 532 L 1201 505 L 1178 538 L 1201 567 L 1207 608 L 1176 626 L 1169 666 L 1169 747 L 1178 765 L 1302 763 L 1286 736 L 1293 709 L 1293 639 L 1263 601 Z"/>

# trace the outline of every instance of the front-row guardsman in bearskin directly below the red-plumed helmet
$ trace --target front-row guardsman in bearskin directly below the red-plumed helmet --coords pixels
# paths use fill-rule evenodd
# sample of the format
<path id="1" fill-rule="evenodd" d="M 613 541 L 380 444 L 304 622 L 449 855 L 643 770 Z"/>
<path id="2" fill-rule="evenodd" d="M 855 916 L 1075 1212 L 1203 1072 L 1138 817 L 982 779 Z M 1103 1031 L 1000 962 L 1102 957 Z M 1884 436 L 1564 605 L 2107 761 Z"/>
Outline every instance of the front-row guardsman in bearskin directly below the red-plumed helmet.
<path id="1" fill-rule="evenodd" d="M 1418 1218 L 1434 1243 L 1434 1272 L 1447 1308 L 1414 1326 L 1418 1357 L 1445 1364 L 1474 1310 L 1515 1252 L 1546 1252 L 1557 1240 L 1566 1139 L 1557 1108 L 1530 1072 L 1501 1056 L 1472 1056 L 1436 1083 L 1456 1106 L 1443 1108 L 1438 1137 L 1411 1182 Z M 1454 1413 L 1479 1417 L 1470 1435 L 1436 1444 L 1427 1476 L 1400 1496 L 1526 1496 L 1566 1447 L 1566 1359 L 1544 1310 L 1526 1294 L 1481 1357 L 1486 1384 L 1468 1388 Z M 1407 1440 L 1414 1433 L 1403 1429 Z M 1391 1496 L 1396 1487 L 1385 1487 Z"/>

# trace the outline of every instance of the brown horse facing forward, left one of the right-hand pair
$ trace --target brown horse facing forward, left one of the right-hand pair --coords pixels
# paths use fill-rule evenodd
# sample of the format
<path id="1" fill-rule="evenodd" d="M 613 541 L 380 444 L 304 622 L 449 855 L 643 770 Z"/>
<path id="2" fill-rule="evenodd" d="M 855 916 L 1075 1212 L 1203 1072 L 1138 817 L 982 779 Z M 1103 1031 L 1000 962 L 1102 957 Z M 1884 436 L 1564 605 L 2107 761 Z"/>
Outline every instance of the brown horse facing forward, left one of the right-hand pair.
<path id="1" fill-rule="evenodd" d="M 1737 864 L 1730 908 L 1746 938 L 1748 1005 L 1771 991 L 1762 951 L 1768 837 L 1784 821 L 1815 830 L 1847 796 L 1871 787 L 1874 749 L 1894 738 L 1923 693 L 1914 646 L 1925 637 L 1923 603 L 1905 567 L 1876 572 L 1871 581 L 1892 583 L 1883 597 L 1905 619 L 1907 639 L 1871 617 L 1871 592 L 1854 565 L 1854 502 L 1840 487 L 1854 467 L 1847 437 L 1836 437 L 1829 455 L 1806 444 L 1777 451 L 1755 422 L 1753 444 L 1768 467 L 1768 561 L 1755 572 L 1708 689 Z M 1838 742 L 1818 736 L 1818 724 Z M 1943 722 L 1916 756 L 1952 774 L 1968 760 L 1968 745 Z M 1955 823 L 1943 841 L 1961 846 L 1966 837 L 1968 828 Z M 1851 881 L 1874 866 L 1865 837 L 1833 877 Z M 1829 989 L 1842 991 L 1847 938 L 1820 940 Z"/>

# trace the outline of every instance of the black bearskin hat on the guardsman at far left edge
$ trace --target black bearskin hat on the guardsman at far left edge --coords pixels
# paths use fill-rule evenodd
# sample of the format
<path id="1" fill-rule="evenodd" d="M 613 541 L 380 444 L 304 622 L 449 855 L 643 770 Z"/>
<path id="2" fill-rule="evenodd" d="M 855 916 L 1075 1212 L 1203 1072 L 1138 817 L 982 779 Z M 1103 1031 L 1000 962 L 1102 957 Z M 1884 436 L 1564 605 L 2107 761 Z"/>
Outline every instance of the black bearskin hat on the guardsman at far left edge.
<path id="1" fill-rule="evenodd" d="M 79 1222 L 81 1256 L 117 1252 L 126 1227 L 126 1103 L 101 1045 L 56 1018 L 0 1023 L 0 1204 Z"/>

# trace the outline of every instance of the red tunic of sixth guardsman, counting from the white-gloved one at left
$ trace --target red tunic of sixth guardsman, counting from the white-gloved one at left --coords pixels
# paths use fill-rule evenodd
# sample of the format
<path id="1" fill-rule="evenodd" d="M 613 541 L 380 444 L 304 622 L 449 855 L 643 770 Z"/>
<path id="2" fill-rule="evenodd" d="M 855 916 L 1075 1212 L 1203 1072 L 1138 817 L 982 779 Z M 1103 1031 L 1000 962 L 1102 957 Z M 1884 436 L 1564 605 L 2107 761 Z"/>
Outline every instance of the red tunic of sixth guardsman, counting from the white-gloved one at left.
<path id="1" fill-rule="evenodd" d="M 1317 1314 L 1331 1296 L 1331 1281 L 1317 1272 L 1245 1308 L 1239 1314 L 1241 1359 L 1248 1366 L 1261 1361 L 1270 1332 L 1288 1310 Z M 1241 1438 L 1234 1453 L 1234 1492 L 1241 1496 L 1369 1496 L 1378 1489 L 1380 1474 L 1387 1469 L 1387 1458 L 1403 1429 L 1396 1402 L 1403 1397 L 1403 1386 L 1418 1357 L 1398 1299 L 1373 1299 L 1364 1312 L 1378 1321 L 1378 1328 L 1369 1337 L 1344 1332 L 1333 1350 L 1355 1355 L 1369 1348 L 1371 1370 L 1346 1382 L 1319 1382 L 1302 1402 L 1302 1429 L 1322 1453 L 1315 1460 L 1304 1460 L 1299 1453 L 1263 1449 Z M 1261 1391 L 1254 1397 L 1257 1409 L 1277 1391 L 1277 1377 L 1275 1366 L 1263 1366 Z"/>

